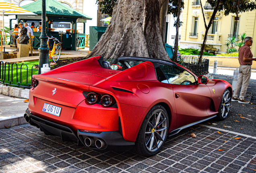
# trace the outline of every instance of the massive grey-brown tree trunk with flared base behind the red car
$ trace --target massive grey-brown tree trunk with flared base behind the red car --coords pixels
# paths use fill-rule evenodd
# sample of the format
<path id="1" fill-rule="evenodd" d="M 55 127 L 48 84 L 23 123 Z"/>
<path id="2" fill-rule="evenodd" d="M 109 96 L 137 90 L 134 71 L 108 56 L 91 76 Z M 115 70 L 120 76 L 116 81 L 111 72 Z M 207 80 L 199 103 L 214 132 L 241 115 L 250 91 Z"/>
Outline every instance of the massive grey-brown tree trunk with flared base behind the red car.
<path id="1" fill-rule="evenodd" d="M 170 60 L 160 29 L 160 9 L 166 0 L 117 0 L 106 32 L 85 57 L 142 56 Z"/>

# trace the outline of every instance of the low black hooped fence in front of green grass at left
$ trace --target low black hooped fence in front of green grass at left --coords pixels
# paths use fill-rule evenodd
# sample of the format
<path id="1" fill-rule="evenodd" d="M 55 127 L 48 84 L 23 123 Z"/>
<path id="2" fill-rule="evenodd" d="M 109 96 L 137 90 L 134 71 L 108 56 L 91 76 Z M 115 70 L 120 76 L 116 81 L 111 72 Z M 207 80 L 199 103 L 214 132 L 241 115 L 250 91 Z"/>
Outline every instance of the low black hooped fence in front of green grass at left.
<path id="1" fill-rule="evenodd" d="M 31 88 L 31 78 L 33 74 L 37 74 L 38 70 L 31 69 L 27 64 L 21 64 L 18 67 L 17 63 L 10 64 L 9 62 L 0 61 L 0 83 L 7 84 L 15 87 L 28 87 Z"/>

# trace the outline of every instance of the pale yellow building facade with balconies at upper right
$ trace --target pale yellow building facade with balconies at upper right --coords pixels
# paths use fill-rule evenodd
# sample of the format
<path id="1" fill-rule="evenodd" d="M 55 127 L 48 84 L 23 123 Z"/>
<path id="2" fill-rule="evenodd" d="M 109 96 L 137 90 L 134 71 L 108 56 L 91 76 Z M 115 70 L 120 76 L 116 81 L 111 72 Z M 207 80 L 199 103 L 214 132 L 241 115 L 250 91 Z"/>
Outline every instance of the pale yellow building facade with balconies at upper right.
<path id="1" fill-rule="evenodd" d="M 211 10 L 211 6 L 206 0 L 202 0 L 202 6 L 204 8 L 205 20 L 208 24 L 213 10 Z M 184 0 L 182 22 L 180 48 L 200 49 L 205 33 L 200 0 Z M 238 18 L 235 14 L 225 16 L 223 11 L 217 12 L 207 34 L 205 50 L 215 53 L 225 52 L 227 49 L 225 46 L 227 38 L 231 36 L 238 38 L 238 35 L 244 32 L 247 36 L 256 40 L 256 10 L 239 13 Z M 256 56 L 255 48 L 256 43 L 251 46 L 254 56 Z"/>

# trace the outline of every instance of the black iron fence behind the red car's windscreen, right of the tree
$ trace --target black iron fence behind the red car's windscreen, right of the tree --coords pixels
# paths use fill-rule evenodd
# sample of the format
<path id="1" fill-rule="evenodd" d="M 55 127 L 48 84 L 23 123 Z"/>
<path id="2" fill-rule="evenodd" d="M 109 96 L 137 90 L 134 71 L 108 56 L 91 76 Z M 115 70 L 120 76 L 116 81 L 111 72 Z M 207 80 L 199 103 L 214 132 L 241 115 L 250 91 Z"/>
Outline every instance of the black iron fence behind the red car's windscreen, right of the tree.
<path id="1" fill-rule="evenodd" d="M 209 59 L 202 58 L 202 61 L 198 62 L 198 58 L 199 57 L 195 56 L 182 56 L 181 65 L 188 68 L 188 70 L 192 71 L 196 76 L 208 73 Z"/>

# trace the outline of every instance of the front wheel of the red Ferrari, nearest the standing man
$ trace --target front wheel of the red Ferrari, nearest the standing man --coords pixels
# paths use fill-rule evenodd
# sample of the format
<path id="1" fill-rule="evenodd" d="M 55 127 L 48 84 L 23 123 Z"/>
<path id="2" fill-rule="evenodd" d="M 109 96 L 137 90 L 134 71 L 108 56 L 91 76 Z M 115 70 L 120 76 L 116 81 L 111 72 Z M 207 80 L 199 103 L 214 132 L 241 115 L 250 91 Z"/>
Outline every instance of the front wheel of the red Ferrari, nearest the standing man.
<path id="1" fill-rule="evenodd" d="M 219 113 L 217 114 L 217 119 L 224 120 L 226 119 L 231 103 L 231 93 L 228 89 L 222 95 L 221 103 L 219 105 Z"/>

